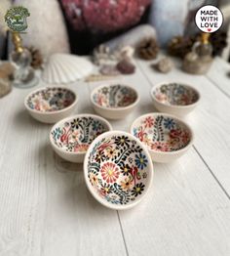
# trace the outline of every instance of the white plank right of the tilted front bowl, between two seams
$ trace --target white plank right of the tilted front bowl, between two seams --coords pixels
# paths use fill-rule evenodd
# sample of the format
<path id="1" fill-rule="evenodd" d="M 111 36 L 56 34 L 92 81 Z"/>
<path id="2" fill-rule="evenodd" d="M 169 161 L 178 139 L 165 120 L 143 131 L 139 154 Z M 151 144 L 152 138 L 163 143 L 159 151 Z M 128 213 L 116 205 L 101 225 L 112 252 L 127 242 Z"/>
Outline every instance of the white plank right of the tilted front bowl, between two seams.
<path id="1" fill-rule="evenodd" d="M 120 213 L 129 254 L 229 255 L 229 200 L 194 150 L 154 167 L 148 198 Z"/>

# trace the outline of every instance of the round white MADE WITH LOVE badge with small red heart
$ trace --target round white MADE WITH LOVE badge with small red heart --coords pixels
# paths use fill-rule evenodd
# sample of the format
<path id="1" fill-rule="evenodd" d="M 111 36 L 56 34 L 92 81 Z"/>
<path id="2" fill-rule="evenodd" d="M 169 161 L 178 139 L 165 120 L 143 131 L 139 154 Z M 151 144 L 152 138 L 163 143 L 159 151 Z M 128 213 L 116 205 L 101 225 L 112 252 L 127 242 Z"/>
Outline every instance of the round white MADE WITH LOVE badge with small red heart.
<path id="1" fill-rule="evenodd" d="M 222 25 L 223 15 L 217 7 L 206 5 L 197 11 L 195 21 L 200 30 L 212 33 Z"/>

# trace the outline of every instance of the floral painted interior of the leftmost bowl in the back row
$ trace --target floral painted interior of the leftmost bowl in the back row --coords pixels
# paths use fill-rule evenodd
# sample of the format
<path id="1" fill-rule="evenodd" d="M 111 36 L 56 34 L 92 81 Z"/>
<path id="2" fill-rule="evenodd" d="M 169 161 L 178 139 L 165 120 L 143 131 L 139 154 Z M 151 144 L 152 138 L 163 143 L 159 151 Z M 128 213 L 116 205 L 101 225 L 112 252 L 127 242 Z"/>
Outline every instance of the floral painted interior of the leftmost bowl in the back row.
<path id="1" fill-rule="evenodd" d="M 26 105 L 41 112 L 52 112 L 69 107 L 76 99 L 75 94 L 65 88 L 46 88 L 31 94 Z"/>

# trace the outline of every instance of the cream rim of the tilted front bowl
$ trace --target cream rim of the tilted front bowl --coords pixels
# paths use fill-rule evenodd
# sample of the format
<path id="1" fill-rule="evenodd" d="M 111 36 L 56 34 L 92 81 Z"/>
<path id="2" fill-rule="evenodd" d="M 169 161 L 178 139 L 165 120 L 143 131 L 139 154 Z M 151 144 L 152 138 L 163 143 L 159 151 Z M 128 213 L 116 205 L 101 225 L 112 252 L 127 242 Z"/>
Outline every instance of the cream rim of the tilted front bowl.
<path id="1" fill-rule="evenodd" d="M 149 173 L 148 173 L 148 183 L 146 185 L 146 190 L 145 192 L 142 194 L 142 196 L 136 198 L 134 201 L 132 201 L 130 204 L 112 204 L 108 201 L 106 201 L 105 199 L 101 198 L 95 191 L 94 188 L 92 187 L 89 178 L 88 178 L 88 158 L 89 158 L 89 154 L 91 152 L 91 150 L 93 149 L 93 147 L 95 146 L 95 144 L 100 141 L 101 139 L 103 139 L 104 137 L 111 137 L 112 135 L 125 135 L 128 136 L 129 138 L 132 138 L 134 141 L 137 142 L 138 146 L 140 146 L 143 150 L 144 153 L 148 159 L 149 162 Z M 154 176 L 154 168 L 153 168 L 153 162 L 152 162 L 152 158 L 151 155 L 148 151 L 148 149 L 140 143 L 139 140 L 137 140 L 137 138 L 134 137 L 134 135 L 132 135 L 131 133 L 128 132 L 123 132 L 123 131 L 109 131 L 106 133 L 103 133 L 101 135 L 99 135 L 98 137 L 96 137 L 95 141 L 90 145 L 89 149 L 87 150 L 85 159 L 84 159 L 84 163 L 83 163 L 83 170 L 84 170 L 84 178 L 85 178 L 85 182 L 87 185 L 88 190 L 91 192 L 91 194 L 93 195 L 93 197 L 95 197 L 96 201 L 98 201 L 99 203 L 101 203 L 103 206 L 108 207 L 110 209 L 113 210 L 127 210 L 130 208 L 133 208 L 137 203 L 139 203 L 144 197 L 145 195 L 147 195 L 147 193 L 149 192 L 150 188 L 152 187 L 152 183 L 153 183 L 153 176 Z"/>

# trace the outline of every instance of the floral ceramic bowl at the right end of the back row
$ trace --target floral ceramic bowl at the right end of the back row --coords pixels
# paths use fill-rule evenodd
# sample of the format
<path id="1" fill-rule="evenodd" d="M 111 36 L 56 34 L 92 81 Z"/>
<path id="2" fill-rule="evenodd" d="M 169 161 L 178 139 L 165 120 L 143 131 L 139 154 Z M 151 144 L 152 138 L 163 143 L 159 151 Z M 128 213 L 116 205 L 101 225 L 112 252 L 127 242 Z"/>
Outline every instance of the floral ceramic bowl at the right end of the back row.
<path id="1" fill-rule="evenodd" d="M 200 93 L 189 85 L 172 82 L 153 87 L 151 97 L 159 111 L 182 116 L 198 105 Z"/>

